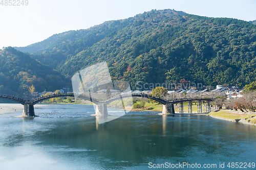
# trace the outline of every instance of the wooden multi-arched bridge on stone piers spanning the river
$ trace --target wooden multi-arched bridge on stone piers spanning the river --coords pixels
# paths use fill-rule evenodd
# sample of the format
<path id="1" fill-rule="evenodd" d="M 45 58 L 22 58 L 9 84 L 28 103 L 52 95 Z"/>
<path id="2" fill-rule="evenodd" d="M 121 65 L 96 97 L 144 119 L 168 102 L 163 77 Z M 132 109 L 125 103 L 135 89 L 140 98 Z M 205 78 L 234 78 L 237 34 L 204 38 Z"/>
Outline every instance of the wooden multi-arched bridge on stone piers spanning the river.
<path id="1" fill-rule="evenodd" d="M 17 98 L 15 96 L 0 94 L 0 99 L 11 100 L 16 103 L 20 103 L 20 104 L 24 105 L 23 116 L 35 116 L 35 112 L 34 112 L 35 104 L 42 102 L 44 100 L 48 100 L 51 98 L 59 98 L 62 96 L 74 97 L 74 94 L 73 93 L 56 93 L 56 94 L 50 94 L 50 95 L 46 95 L 46 96 L 40 96 L 40 97 L 38 97 L 36 99 L 32 99 L 32 100 L 24 100 L 22 98 Z M 192 101 L 198 101 L 197 102 L 198 103 L 198 113 L 202 113 L 202 101 L 206 101 L 206 112 L 210 112 L 210 102 L 212 101 L 212 98 L 181 98 L 181 99 L 174 99 L 174 100 L 166 100 L 166 99 L 158 98 L 151 94 L 145 94 L 145 93 L 121 93 L 121 94 L 118 94 L 111 98 L 105 99 L 103 101 L 102 100 L 99 101 L 95 98 L 92 98 L 88 95 L 83 95 L 83 94 L 79 94 L 78 98 L 95 103 L 97 105 L 95 115 L 106 116 L 106 115 L 108 115 L 108 111 L 106 109 L 107 104 L 109 104 L 115 100 L 129 98 L 132 96 L 158 101 L 159 103 L 163 104 L 162 114 L 175 114 L 174 104 L 177 104 L 177 103 L 180 104 L 180 113 L 183 114 L 183 103 L 184 102 L 188 102 L 188 113 L 192 113 Z"/>

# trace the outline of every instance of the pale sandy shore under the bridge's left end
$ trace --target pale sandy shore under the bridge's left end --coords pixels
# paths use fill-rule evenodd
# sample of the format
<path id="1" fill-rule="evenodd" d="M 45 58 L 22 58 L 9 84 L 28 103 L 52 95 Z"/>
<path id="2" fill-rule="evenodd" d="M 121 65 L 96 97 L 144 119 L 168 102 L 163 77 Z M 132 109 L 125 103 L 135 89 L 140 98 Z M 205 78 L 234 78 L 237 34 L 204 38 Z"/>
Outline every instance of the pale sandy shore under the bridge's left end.
<path id="1" fill-rule="evenodd" d="M 34 107 L 46 107 L 48 105 L 34 105 Z M 2 113 L 13 113 L 13 112 L 22 112 L 22 104 L 9 104 L 9 103 L 0 103 L 0 114 Z"/>

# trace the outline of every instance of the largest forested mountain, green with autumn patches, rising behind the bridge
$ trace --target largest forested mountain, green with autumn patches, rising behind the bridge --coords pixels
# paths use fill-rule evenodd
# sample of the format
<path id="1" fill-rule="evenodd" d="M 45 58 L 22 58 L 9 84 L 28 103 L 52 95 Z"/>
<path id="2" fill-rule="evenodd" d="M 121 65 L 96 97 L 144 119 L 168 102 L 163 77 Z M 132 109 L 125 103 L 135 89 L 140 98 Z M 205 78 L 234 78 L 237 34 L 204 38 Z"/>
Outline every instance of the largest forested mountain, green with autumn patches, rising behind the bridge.
<path id="1" fill-rule="evenodd" d="M 48 44 L 31 56 L 67 78 L 106 61 L 112 78 L 129 81 L 133 89 L 137 81 L 184 78 L 204 85 L 244 86 L 256 80 L 256 26 L 247 21 L 152 10 L 79 30 L 81 36 L 77 32 L 66 34 L 72 38 L 62 33 L 55 46 Z"/>

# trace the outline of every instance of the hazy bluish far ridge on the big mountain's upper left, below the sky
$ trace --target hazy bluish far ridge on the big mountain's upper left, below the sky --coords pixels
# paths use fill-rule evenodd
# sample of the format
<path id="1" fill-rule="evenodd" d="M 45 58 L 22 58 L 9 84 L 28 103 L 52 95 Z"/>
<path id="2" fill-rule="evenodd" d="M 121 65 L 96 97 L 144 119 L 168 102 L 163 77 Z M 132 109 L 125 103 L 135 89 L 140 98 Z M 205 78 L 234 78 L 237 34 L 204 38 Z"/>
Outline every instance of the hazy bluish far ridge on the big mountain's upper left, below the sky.
<path id="1" fill-rule="evenodd" d="M 67 46 L 67 52 L 65 52 L 65 55 L 74 54 L 77 53 L 77 51 L 81 51 L 83 48 L 92 46 L 94 43 L 100 41 L 106 36 L 111 36 L 111 34 L 126 27 L 131 22 L 133 22 L 133 20 L 128 19 L 121 25 L 116 25 L 115 21 L 107 21 L 101 25 L 91 27 L 87 30 L 67 31 L 60 34 L 54 34 L 44 41 L 37 42 L 25 47 L 14 48 L 25 53 L 44 53 L 45 55 L 52 55 L 51 51 L 55 53 L 56 51 L 59 52 L 59 50 L 63 51 L 63 46 Z"/>

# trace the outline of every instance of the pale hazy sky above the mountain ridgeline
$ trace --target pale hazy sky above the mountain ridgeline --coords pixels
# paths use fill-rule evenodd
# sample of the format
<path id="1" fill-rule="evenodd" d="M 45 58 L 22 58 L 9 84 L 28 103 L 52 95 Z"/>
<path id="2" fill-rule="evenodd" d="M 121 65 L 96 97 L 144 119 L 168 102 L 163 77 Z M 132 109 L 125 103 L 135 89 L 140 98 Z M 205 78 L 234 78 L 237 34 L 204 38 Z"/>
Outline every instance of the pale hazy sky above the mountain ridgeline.
<path id="1" fill-rule="evenodd" d="M 13 3 L 13 0 L 9 1 Z M 152 9 L 175 9 L 200 16 L 246 21 L 256 19 L 256 0 L 27 1 L 28 6 L 0 5 L 0 48 L 27 46 L 53 34 L 87 29 L 104 21 L 133 17 Z"/>

